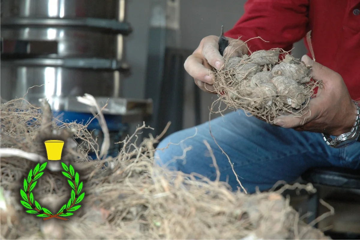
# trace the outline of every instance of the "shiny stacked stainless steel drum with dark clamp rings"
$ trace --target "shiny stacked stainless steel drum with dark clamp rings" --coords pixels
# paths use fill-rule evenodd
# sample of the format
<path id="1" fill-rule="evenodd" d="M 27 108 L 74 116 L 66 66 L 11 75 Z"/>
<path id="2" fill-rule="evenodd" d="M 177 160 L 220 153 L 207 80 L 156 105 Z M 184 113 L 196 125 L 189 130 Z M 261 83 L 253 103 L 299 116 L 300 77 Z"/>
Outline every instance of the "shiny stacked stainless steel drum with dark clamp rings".
<path id="1" fill-rule="evenodd" d="M 1 0 L 1 98 L 121 97 L 124 16 L 125 0 Z"/>

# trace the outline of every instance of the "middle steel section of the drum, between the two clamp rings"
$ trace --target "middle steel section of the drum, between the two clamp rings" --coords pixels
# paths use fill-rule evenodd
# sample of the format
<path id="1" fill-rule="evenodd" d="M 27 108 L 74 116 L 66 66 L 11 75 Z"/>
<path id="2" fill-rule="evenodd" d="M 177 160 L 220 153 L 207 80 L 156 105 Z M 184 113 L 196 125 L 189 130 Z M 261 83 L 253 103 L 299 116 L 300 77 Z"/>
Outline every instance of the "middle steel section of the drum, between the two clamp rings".
<path id="1" fill-rule="evenodd" d="M 118 56 L 117 53 L 117 46 L 122 45 L 122 37 L 86 29 L 69 29 L 66 23 L 63 23 L 62 27 L 48 27 L 44 24 L 42 28 L 21 26 L 14 31 L 12 25 L 6 25 L 1 20 L 1 37 L 4 42 L 3 54 L 6 55 L 46 58 L 96 56 L 122 60 L 122 54 Z"/>

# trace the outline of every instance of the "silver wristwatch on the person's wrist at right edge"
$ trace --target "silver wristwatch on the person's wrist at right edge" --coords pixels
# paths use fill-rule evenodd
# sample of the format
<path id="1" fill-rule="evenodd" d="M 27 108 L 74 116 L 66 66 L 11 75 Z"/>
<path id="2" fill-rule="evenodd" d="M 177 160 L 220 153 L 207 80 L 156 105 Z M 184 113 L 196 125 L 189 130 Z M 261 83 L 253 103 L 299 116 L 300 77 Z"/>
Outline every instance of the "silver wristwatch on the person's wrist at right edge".
<path id="1" fill-rule="evenodd" d="M 353 100 L 354 101 L 354 100 Z M 334 139 L 331 138 L 329 134 L 324 134 L 323 138 L 327 145 L 329 145 L 332 148 L 345 148 L 348 145 L 353 144 L 358 139 L 360 140 L 360 106 L 359 104 L 355 102 L 356 105 L 356 118 L 354 126 L 351 128 L 350 132 L 341 134 L 340 136 L 335 137 Z"/>

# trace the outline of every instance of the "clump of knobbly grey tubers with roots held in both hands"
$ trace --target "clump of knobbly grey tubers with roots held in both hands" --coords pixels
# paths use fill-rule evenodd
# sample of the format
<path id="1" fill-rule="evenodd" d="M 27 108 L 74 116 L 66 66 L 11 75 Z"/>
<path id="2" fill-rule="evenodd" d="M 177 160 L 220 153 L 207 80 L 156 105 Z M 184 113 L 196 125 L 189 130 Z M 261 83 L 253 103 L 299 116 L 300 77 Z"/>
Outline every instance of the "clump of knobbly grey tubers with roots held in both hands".
<path id="1" fill-rule="evenodd" d="M 310 70 L 281 49 L 260 50 L 225 59 L 224 67 L 216 72 L 214 87 L 229 108 L 272 122 L 280 115 L 303 114 L 320 85 L 310 81 Z"/>

